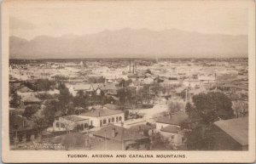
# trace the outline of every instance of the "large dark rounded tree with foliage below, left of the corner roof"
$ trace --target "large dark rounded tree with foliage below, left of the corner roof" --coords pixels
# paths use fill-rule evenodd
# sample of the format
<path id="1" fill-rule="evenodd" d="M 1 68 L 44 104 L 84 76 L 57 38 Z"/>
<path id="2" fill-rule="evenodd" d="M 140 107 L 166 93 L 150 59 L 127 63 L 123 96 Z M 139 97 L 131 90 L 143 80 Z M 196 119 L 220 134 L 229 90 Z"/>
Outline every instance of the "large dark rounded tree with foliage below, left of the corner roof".
<path id="1" fill-rule="evenodd" d="M 212 123 L 219 119 L 233 118 L 230 99 L 224 93 L 200 93 L 193 96 L 194 106 L 186 105 L 190 127 L 186 133 L 189 150 L 212 149 Z"/>

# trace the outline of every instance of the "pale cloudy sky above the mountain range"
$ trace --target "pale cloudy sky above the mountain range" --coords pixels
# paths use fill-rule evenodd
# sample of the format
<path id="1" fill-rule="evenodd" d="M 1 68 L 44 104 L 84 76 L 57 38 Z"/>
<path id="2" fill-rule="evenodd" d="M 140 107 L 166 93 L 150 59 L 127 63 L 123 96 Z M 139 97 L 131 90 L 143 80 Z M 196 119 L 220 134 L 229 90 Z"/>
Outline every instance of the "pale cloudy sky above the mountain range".
<path id="1" fill-rule="evenodd" d="M 173 5 L 168 1 L 87 1 L 13 5 L 9 35 L 31 40 L 47 35 L 85 35 L 123 28 L 179 29 L 209 34 L 247 35 L 247 8 Z"/>

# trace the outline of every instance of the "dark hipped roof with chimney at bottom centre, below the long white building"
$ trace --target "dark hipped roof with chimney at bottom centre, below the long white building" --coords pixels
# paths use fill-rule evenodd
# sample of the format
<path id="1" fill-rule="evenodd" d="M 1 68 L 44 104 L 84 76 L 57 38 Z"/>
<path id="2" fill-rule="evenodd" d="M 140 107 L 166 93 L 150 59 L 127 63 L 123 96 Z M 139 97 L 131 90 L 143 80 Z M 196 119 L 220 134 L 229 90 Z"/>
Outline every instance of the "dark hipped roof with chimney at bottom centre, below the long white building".
<path id="1" fill-rule="evenodd" d="M 113 139 L 117 141 L 137 141 L 141 139 L 148 139 L 148 137 L 137 133 L 137 131 L 127 129 L 125 127 L 115 126 L 113 124 L 103 127 L 101 130 L 94 132 L 93 135 L 96 137 Z"/>

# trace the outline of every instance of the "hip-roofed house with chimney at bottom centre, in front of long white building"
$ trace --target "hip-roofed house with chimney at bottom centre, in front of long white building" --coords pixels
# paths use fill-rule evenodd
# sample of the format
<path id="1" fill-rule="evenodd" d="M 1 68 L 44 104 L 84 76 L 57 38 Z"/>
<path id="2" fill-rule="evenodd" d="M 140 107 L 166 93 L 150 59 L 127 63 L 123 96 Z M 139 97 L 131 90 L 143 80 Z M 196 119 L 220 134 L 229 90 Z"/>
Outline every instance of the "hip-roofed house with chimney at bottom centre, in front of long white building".
<path id="1" fill-rule="evenodd" d="M 97 139 L 103 139 L 100 145 L 95 145 L 99 150 L 148 150 L 149 138 L 141 133 L 125 127 L 110 124 L 93 133 Z"/>

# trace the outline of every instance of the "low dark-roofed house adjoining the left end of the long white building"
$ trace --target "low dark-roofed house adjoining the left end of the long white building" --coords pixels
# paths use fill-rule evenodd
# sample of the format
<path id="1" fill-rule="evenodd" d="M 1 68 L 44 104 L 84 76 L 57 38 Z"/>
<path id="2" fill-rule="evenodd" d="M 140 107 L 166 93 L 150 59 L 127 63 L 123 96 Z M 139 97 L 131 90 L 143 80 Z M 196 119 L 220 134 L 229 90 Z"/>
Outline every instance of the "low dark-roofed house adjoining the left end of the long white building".
<path id="1" fill-rule="evenodd" d="M 61 116 L 53 122 L 53 131 L 72 131 L 75 128 L 84 130 L 89 128 L 89 118 L 82 116 Z"/>

